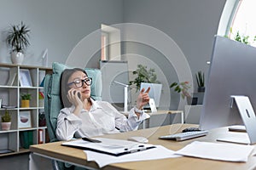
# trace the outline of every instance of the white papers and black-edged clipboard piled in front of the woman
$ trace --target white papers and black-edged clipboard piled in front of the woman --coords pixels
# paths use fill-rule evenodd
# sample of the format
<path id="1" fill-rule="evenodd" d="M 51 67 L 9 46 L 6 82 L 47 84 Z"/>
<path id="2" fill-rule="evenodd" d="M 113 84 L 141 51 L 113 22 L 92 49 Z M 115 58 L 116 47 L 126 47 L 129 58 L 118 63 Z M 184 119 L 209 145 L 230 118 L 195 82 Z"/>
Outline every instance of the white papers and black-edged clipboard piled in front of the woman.
<path id="1" fill-rule="evenodd" d="M 96 138 L 101 143 L 87 142 L 82 139 L 62 143 L 62 145 L 84 149 L 87 161 L 96 161 L 99 167 L 126 161 L 148 161 L 180 157 L 160 145 L 141 144 L 137 142 Z"/>

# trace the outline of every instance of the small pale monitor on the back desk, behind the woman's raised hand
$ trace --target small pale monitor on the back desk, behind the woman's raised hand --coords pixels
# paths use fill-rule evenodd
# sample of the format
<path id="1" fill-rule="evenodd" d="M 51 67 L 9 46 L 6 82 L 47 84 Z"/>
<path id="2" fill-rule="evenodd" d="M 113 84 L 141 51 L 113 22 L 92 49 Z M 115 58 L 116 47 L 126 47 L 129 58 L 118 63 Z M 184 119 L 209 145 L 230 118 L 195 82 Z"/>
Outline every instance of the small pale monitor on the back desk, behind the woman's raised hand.
<path id="1" fill-rule="evenodd" d="M 148 83 L 148 82 L 142 82 L 140 91 L 145 88 L 145 90 L 150 87 L 150 91 L 148 93 L 148 96 L 150 99 L 154 99 L 155 107 L 159 107 L 160 105 L 160 96 L 161 96 L 161 90 L 162 90 L 162 84 L 156 84 L 156 83 Z M 150 109 L 149 105 L 145 105 L 144 109 Z"/>

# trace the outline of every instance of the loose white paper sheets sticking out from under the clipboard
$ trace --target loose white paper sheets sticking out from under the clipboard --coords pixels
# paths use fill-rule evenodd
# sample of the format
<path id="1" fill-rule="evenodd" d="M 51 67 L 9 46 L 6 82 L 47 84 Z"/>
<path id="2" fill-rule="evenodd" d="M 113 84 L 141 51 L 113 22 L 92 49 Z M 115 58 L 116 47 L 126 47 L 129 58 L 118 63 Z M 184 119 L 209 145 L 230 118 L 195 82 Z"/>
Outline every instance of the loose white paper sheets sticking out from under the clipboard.
<path id="1" fill-rule="evenodd" d="M 174 155 L 173 150 L 168 150 L 164 146 L 155 145 L 156 148 L 150 150 L 143 150 L 140 152 L 127 154 L 124 156 L 110 156 L 98 152 L 84 150 L 88 161 L 96 161 L 99 167 L 104 167 L 108 164 L 126 162 L 126 161 L 148 161 L 158 160 L 172 157 L 180 157 Z"/>

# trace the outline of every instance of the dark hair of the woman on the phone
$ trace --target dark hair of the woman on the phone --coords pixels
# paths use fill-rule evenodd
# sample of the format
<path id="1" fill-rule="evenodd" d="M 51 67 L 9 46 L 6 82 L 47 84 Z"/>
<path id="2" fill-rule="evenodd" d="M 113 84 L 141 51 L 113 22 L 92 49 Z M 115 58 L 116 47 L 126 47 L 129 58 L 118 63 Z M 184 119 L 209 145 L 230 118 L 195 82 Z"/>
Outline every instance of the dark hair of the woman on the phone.
<path id="1" fill-rule="evenodd" d="M 68 79 L 76 71 L 82 71 L 86 76 L 88 76 L 86 71 L 80 68 L 66 69 L 61 74 L 61 102 L 64 107 L 71 107 L 72 105 L 67 99 L 67 92 L 70 89 L 69 86 L 67 86 L 67 82 L 68 82 Z"/>

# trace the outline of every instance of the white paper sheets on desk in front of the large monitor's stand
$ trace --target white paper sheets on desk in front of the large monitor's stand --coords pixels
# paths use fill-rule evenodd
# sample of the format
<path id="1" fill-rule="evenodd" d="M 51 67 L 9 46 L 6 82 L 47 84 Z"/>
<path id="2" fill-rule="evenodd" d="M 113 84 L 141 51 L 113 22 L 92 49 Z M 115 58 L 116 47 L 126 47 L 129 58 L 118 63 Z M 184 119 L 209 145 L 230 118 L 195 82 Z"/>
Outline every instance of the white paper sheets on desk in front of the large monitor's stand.
<path id="1" fill-rule="evenodd" d="M 254 146 L 195 141 L 177 150 L 177 155 L 194 156 L 220 161 L 247 161 Z"/>

